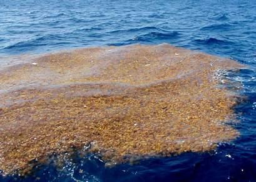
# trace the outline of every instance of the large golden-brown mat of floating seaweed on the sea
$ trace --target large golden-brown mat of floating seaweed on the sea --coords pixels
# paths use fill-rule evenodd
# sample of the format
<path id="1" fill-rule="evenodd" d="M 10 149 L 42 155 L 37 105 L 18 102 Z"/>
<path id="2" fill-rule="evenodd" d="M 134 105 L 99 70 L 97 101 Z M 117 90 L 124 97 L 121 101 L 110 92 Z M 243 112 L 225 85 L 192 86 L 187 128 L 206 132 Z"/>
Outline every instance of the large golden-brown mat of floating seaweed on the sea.
<path id="1" fill-rule="evenodd" d="M 5 175 L 24 175 L 32 161 L 73 148 L 121 163 L 208 151 L 238 136 L 225 124 L 237 96 L 216 76 L 243 67 L 233 60 L 161 44 L 78 49 L 31 63 L 0 71 Z"/>

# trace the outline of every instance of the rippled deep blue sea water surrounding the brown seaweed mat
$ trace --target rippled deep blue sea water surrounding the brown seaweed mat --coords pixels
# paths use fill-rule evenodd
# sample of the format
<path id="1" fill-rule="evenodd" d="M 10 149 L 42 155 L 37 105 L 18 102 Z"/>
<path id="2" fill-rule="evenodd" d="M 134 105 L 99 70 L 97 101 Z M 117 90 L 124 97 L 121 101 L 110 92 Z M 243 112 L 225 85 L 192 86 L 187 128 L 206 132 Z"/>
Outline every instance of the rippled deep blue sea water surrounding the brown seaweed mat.
<path id="1" fill-rule="evenodd" d="M 248 69 L 228 75 L 243 85 L 241 136 L 210 153 L 184 153 L 105 168 L 96 156 L 63 169 L 0 181 L 256 181 L 256 1 L 0 0 L 0 57 L 95 45 L 160 44 L 231 57 Z"/>

